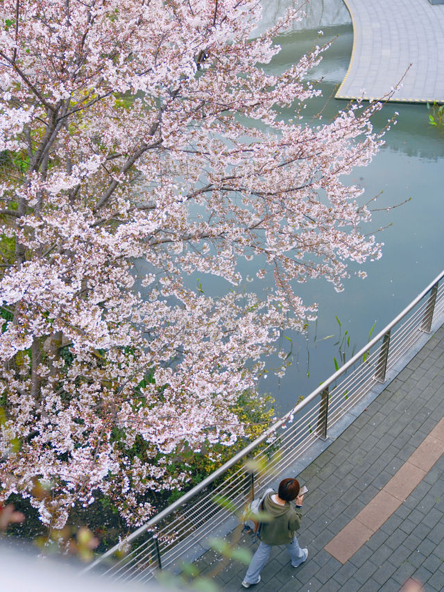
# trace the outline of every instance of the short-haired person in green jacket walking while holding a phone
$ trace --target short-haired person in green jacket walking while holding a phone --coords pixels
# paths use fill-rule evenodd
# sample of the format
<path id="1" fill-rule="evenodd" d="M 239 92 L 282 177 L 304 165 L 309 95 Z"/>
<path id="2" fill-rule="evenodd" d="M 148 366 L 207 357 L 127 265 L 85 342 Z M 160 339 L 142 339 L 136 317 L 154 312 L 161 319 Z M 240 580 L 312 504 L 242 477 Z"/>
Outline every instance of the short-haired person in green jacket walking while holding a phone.
<path id="1" fill-rule="evenodd" d="M 267 493 L 264 498 L 264 511 L 271 520 L 262 525 L 262 540 L 253 555 L 244 577 L 242 586 L 249 588 L 253 584 L 259 584 L 260 573 L 268 557 L 271 547 L 285 545 L 289 552 L 291 565 L 298 567 L 308 557 L 308 550 L 301 549 L 295 531 L 300 527 L 302 520 L 303 495 L 299 495 L 299 482 L 297 479 L 284 479 L 280 482 L 278 493 Z M 296 500 L 296 507 L 291 502 Z"/>

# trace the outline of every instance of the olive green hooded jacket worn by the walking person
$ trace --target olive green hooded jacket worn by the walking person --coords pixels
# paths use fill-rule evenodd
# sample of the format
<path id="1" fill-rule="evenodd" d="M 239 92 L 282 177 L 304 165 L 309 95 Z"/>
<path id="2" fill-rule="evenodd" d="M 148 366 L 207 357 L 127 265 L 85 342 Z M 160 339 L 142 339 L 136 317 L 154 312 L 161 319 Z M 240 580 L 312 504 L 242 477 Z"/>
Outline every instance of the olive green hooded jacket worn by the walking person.
<path id="1" fill-rule="evenodd" d="M 286 502 L 284 506 L 273 502 L 271 496 L 275 495 L 273 491 L 264 499 L 264 511 L 272 520 L 262 525 L 262 541 L 267 545 L 287 545 L 293 541 L 295 530 L 300 527 L 302 509 L 294 507 L 290 502 Z"/>

